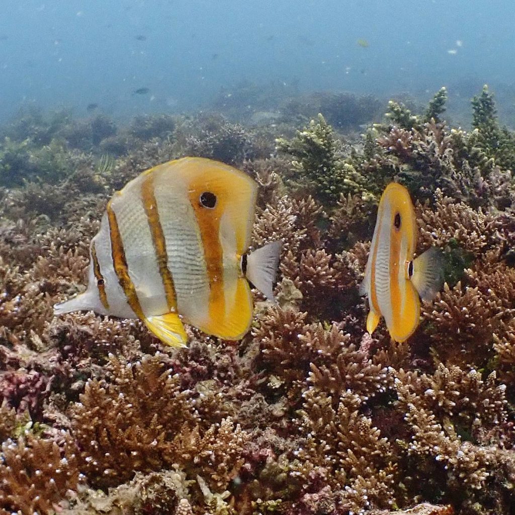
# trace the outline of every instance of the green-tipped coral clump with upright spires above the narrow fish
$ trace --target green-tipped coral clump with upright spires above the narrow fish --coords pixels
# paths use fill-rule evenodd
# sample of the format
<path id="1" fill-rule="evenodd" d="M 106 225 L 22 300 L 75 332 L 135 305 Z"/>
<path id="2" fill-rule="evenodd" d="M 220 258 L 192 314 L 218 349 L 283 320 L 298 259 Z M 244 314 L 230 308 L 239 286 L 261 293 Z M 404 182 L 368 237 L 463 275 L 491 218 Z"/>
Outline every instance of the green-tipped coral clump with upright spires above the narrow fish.
<path id="1" fill-rule="evenodd" d="M 474 130 L 451 129 L 442 119 L 447 90 L 441 88 L 421 114 L 389 102 L 389 124 L 367 131 L 361 167 L 376 182 L 401 181 L 413 195 L 433 198 L 436 188 L 474 207 L 511 204 L 515 136 L 497 121 L 485 87 L 473 100 Z"/>

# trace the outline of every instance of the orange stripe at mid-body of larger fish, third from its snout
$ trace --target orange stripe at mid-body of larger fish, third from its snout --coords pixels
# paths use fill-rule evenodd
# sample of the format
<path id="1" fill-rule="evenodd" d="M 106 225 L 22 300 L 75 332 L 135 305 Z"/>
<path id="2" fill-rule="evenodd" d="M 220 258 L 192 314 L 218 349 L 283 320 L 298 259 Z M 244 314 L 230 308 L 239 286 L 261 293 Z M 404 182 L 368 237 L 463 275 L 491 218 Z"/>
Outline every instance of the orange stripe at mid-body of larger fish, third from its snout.
<path id="1" fill-rule="evenodd" d="M 163 228 L 159 218 L 158 205 L 154 195 L 154 176 L 147 174 L 141 186 L 141 196 L 143 200 L 143 208 L 147 215 L 148 227 L 152 235 L 152 243 L 156 251 L 156 259 L 158 262 L 159 273 L 163 281 L 166 303 L 168 311 L 177 311 L 177 294 L 174 286 L 174 278 L 168 268 L 168 253 L 166 252 L 166 241 L 163 234 Z"/>

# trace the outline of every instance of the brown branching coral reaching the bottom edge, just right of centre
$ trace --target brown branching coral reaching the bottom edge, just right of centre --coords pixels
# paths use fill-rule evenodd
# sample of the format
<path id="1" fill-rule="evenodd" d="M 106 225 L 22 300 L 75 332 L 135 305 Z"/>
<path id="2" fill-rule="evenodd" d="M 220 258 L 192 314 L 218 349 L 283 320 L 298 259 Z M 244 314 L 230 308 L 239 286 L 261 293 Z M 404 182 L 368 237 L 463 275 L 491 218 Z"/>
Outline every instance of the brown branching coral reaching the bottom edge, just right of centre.
<path id="1" fill-rule="evenodd" d="M 387 507 L 393 501 L 395 458 L 386 438 L 359 413 L 359 397 L 344 392 L 336 408 L 331 397 L 314 389 L 304 398 L 297 421 L 303 438 L 290 474 L 306 481 L 320 467 L 325 481 L 342 489 L 346 510 Z"/>

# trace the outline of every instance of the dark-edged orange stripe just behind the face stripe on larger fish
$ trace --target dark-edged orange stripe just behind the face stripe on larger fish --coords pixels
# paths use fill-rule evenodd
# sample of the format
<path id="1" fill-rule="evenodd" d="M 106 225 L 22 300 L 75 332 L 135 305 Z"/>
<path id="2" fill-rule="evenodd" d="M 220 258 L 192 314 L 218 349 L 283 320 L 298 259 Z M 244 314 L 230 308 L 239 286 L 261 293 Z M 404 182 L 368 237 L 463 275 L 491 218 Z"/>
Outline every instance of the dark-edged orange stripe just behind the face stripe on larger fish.
<path id="1" fill-rule="evenodd" d="M 119 193 L 115 193 L 115 196 L 119 195 Z M 113 196 L 113 198 L 115 198 Z M 120 286 L 124 290 L 125 297 L 127 298 L 127 302 L 131 307 L 131 310 L 141 318 L 145 319 L 145 314 L 143 313 L 140 301 L 138 299 L 138 294 L 136 293 L 136 289 L 134 288 L 134 284 L 129 276 L 129 269 L 127 266 L 127 259 L 125 258 L 125 250 L 122 242 L 122 235 L 120 234 L 118 228 L 118 222 L 116 221 L 116 215 L 112 208 L 113 199 L 111 199 L 107 203 L 107 218 L 109 220 L 109 235 L 111 239 L 111 256 L 113 260 L 114 271 L 116 272 L 116 277 L 118 278 L 118 282 Z"/>

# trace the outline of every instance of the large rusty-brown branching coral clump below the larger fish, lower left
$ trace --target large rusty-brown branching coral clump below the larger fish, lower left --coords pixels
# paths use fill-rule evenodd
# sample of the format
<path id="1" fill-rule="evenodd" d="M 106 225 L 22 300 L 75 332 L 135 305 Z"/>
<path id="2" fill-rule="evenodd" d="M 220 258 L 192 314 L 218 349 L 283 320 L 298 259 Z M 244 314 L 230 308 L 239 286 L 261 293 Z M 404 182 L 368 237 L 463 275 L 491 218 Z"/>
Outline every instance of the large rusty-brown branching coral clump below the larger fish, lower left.
<path id="1" fill-rule="evenodd" d="M 178 377 L 156 359 L 134 366 L 111 358 L 112 384 L 89 382 L 72 412 L 81 468 L 93 484 L 117 485 L 134 472 L 173 463 L 173 440 L 195 425 Z"/>

